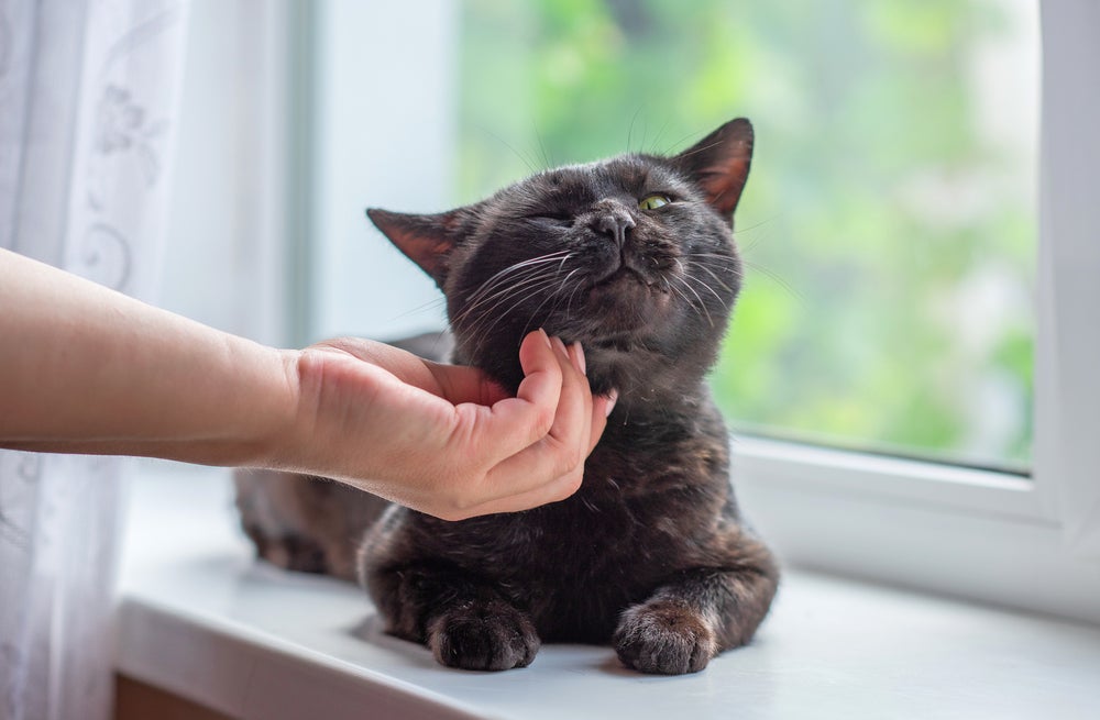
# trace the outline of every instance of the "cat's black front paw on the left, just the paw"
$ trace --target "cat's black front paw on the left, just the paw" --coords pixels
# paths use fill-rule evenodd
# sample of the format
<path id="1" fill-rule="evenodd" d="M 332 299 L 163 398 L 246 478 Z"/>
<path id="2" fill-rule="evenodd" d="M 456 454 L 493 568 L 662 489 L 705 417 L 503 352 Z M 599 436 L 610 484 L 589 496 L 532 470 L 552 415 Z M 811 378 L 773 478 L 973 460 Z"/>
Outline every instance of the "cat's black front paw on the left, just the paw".
<path id="1" fill-rule="evenodd" d="M 530 619 L 503 600 L 449 610 L 428 625 L 428 647 L 436 660 L 463 669 L 526 667 L 541 644 Z"/>

